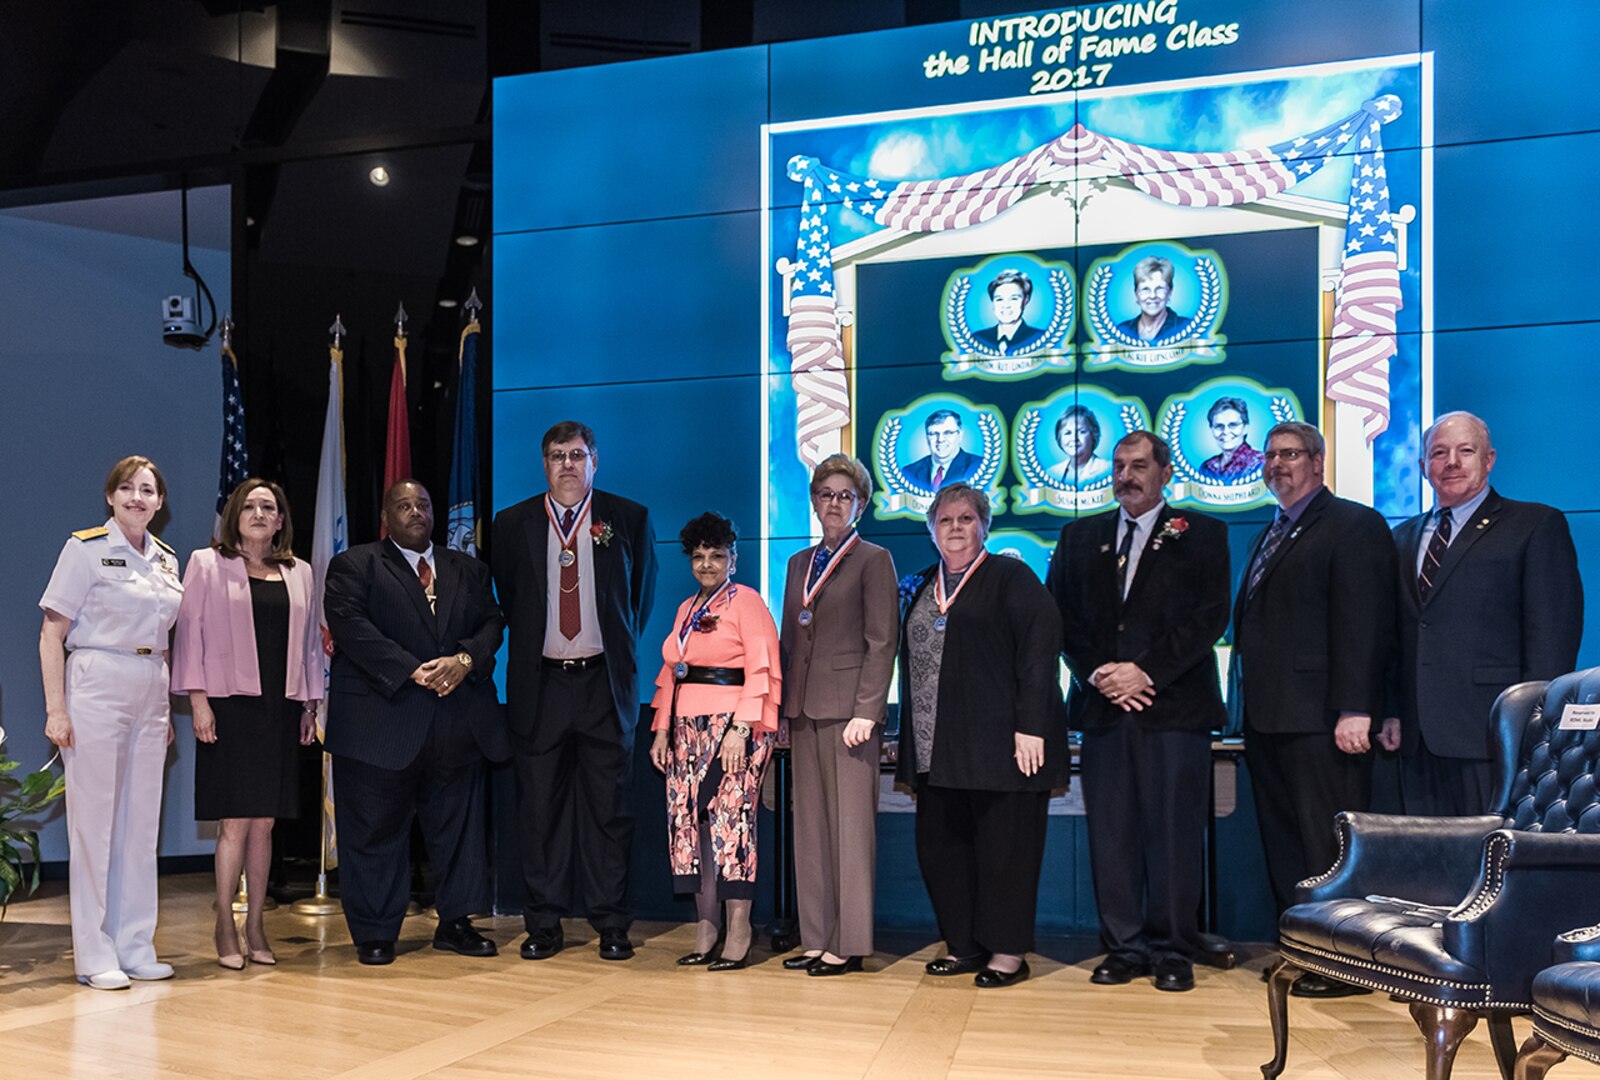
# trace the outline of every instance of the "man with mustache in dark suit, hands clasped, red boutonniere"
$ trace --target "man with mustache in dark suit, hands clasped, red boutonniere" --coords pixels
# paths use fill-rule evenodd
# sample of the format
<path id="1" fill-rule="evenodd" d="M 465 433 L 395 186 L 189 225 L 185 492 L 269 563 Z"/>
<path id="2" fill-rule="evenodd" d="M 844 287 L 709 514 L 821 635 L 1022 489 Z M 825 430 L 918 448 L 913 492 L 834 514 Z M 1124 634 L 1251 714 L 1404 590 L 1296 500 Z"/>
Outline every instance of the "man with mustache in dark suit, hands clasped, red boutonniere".
<path id="1" fill-rule="evenodd" d="M 1125 435 L 1112 454 L 1117 509 L 1069 522 L 1046 584 L 1061 610 L 1083 733 L 1083 808 L 1106 960 L 1091 982 L 1155 976 L 1192 990 L 1200 934 L 1211 731 L 1227 722 L 1216 642 L 1227 630 L 1227 526 L 1179 514 L 1163 488 L 1173 451 Z"/>

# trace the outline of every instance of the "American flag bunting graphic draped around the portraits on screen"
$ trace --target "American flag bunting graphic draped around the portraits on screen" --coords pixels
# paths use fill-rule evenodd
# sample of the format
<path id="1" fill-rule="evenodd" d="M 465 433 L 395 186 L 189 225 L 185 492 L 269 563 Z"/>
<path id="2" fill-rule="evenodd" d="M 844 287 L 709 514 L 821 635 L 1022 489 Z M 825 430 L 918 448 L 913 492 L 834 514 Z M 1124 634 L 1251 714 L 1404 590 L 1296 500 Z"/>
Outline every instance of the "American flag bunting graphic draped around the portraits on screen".
<path id="1" fill-rule="evenodd" d="M 790 158 L 787 174 L 803 186 L 787 333 L 800 458 L 814 466 L 822 440 L 850 422 L 834 298 L 834 206 L 901 232 L 965 229 L 1006 211 L 1035 184 L 1064 179 L 1082 165 L 1114 168 L 1138 190 L 1176 206 L 1242 206 L 1288 190 L 1338 157 L 1352 158 L 1354 170 L 1325 389 L 1333 400 L 1365 410 L 1366 442 L 1373 442 L 1389 426 L 1389 357 L 1395 352 L 1400 307 L 1381 134 L 1382 125 L 1398 115 L 1400 99 L 1386 94 L 1309 134 L 1226 152 L 1162 150 L 1080 123 L 992 168 L 931 181 L 878 181 L 827 168 L 813 157 Z"/>

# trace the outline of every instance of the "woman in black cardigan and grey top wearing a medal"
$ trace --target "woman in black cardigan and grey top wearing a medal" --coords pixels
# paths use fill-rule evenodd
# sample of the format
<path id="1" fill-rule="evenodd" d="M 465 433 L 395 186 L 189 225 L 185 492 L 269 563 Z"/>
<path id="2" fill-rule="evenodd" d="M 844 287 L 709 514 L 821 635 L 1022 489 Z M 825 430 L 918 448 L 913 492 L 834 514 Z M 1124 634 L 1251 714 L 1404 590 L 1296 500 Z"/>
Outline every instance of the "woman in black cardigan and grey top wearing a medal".
<path id="1" fill-rule="evenodd" d="M 1050 794 L 1069 778 L 1061 614 L 1034 571 L 990 558 L 989 498 L 952 483 L 928 507 L 939 562 L 901 582 L 899 766 L 946 952 L 933 976 L 1029 976 Z"/>

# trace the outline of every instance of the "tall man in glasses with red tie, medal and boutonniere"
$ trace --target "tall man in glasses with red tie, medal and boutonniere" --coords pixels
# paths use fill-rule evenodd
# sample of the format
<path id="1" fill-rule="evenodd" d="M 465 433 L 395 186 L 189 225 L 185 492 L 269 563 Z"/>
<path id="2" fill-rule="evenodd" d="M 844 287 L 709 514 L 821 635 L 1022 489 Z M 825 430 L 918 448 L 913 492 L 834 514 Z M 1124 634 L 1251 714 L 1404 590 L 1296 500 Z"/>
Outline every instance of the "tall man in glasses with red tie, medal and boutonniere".
<path id="1" fill-rule="evenodd" d="M 656 592 L 650 512 L 594 486 L 578 421 L 541 442 L 549 490 L 494 517 L 494 586 L 510 627 L 506 706 L 517 776 L 523 960 L 562 950 L 574 901 L 602 960 L 627 960 L 638 634 Z M 581 893 L 581 896 L 579 896 Z"/>

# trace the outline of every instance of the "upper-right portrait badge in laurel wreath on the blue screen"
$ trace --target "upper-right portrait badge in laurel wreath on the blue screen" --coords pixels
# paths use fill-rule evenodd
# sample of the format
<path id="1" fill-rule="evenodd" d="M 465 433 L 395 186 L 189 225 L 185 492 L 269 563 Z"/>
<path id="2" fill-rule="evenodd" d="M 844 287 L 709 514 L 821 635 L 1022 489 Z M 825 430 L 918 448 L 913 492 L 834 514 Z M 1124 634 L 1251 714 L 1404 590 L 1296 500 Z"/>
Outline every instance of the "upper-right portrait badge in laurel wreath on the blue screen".
<path id="1" fill-rule="evenodd" d="M 1093 344 L 1083 366 L 1130 371 L 1219 363 L 1227 277 L 1216 251 L 1178 242 L 1138 243 L 1096 259 L 1083 277 Z"/>

